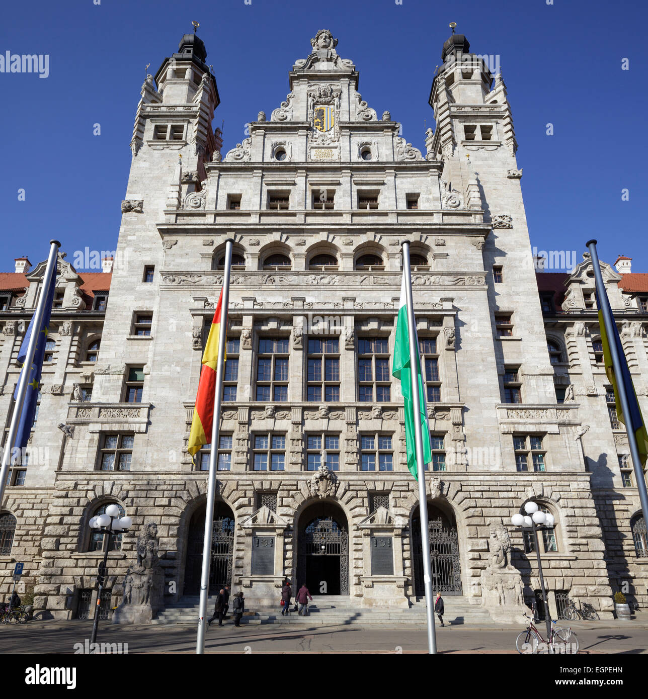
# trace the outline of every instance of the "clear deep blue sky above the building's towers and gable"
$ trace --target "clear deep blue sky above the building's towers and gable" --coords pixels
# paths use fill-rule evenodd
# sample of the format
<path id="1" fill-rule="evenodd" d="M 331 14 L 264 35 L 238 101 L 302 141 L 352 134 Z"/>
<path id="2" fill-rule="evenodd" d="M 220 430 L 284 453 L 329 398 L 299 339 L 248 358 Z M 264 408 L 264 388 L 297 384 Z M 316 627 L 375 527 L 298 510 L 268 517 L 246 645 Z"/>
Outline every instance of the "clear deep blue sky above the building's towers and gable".
<path id="1" fill-rule="evenodd" d="M 97 0 L 95 0 L 97 1 Z M 602 0 L 222 0 L 196 8 L 169 0 L 5 3 L 0 54 L 50 55 L 50 75 L 0 73 L 0 271 L 44 259 L 48 240 L 112 250 L 131 162 L 129 143 L 145 65 L 155 73 L 192 20 L 213 64 L 224 151 L 245 122 L 268 117 L 288 92 L 288 71 L 328 28 L 360 73 L 360 92 L 391 111 L 424 150 L 427 104 L 448 23 L 471 50 L 498 54 L 519 143 L 531 243 L 633 257 L 648 271 L 644 182 L 646 3 Z M 630 70 L 621 70 L 622 59 Z M 101 124 L 101 136 L 92 125 Z M 554 124 L 554 136 L 545 124 Z M 18 201 L 24 188 L 25 201 Z M 629 189 L 629 201 L 621 190 Z"/>

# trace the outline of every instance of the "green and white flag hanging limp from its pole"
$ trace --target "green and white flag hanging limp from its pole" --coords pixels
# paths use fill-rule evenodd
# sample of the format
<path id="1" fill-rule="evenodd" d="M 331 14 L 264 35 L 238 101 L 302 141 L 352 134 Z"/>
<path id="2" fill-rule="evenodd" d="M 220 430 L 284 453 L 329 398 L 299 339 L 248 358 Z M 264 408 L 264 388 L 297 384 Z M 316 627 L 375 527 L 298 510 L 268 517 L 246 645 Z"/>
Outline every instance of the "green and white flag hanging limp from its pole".
<path id="1" fill-rule="evenodd" d="M 410 373 L 410 332 L 408 329 L 408 305 L 407 292 L 405 287 L 405 270 L 403 270 L 403 281 L 401 282 L 401 302 L 398 304 L 398 321 L 396 322 L 396 347 L 394 348 L 394 364 L 391 367 L 391 375 L 401 382 L 401 393 L 405 399 L 405 442 L 408 450 L 408 468 L 410 473 L 418 480 L 418 469 L 416 463 L 415 446 L 415 416 L 414 403 L 412 401 L 412 374 Z M 412 315 L 414 315 L 412 313 Z M 416 326 L 414 336 L 417 337 Z M 418 340 L 417 340 L 418 342 Z M 421 359 L 418 347 L 416 349 L 417 375 L 419 384 L 419 408 L 421 414 L 418 416 L 421 424 L 423 436 L 423 461 L 432 461 L 432 450 L 430 445 L 430 425 L 425 406 L 425 394 L 423 390 L 423 375 L 421 372 Z"/>

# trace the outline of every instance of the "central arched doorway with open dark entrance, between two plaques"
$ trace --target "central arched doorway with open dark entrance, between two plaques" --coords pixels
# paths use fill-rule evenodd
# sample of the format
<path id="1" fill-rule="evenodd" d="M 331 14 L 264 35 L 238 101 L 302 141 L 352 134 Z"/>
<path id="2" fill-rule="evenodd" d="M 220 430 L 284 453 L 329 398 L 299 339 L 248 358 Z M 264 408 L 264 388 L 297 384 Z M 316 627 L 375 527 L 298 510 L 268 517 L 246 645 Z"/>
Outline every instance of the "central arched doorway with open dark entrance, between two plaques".
<path id="1" fill-rule="evenodd" d="M 349 593 L 349 528 L 338 505 L 314 503 L 299 517 L 294 582 L 313 595 Z"/>

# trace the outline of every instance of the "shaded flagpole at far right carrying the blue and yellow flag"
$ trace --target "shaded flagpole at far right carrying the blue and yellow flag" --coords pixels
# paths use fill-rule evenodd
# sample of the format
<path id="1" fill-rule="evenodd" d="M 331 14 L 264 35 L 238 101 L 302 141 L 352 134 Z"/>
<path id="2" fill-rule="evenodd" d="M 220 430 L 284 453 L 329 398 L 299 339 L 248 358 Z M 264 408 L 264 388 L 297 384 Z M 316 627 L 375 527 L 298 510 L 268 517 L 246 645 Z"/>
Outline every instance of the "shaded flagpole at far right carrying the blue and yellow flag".
<path id="1" fill-rule="evenodd" d="M 605 285 L 603 284 L 603 275 L 600 273 L 600 263 L 598 261 L 598 253 L 596 252 L 596 240 L 588 240 L 585 245 L 589 248 L 589 254 L 591 256 L 594 279 L 596 280 L 596 287 L 598 289 L 598 303 L 600 303 L 600 311 L 603 314 L 603 323 L 605 324 L 605 332 L 607 334 L 607 345 L 610 347 L 610 354 L 612 355 L 612 368 L 614 369 L 614 376 L 617 378 L 619 403 L 621 403 L 621 410 L 624 413 L 624 420 L 626 422 L 626 434 L 628 435 L 628 444 L 630 445 L 630 453 L 635 470 L 635 481 L 637 482 L 637 489 L 639 491 L 642 514 L 644 519 L 646 519 L 646 517 L 648 517 L 648 493 L 646 491 L 646 480 L 641 459 L 639 458 L 637 436 L 632 428 L 633 422 L 630 414 L 630 405 L 628 404 L 628 394 L 626 393 L 626 385 L 624 384 L 623 373 L 621 370 L 621 357 L 619 356 L 619 352 L 617 352 L 617 343 L 614 340 L 613 330 L 615 329 L 615 324 L 614 317 L 612 316 L 612 308 L 610 308 L 610 299 L 607 298 L 607 292 L 605 291 Z"/>

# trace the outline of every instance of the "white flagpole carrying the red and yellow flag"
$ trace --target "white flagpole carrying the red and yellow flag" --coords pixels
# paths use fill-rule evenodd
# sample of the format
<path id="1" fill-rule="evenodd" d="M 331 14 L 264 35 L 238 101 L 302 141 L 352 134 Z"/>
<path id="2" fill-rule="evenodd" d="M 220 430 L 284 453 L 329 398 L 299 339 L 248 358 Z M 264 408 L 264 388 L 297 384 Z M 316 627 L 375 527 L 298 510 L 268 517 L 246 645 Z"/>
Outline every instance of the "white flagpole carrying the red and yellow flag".
<path id="1" fill-rule="evenodd" d="M 203 570 L 200 580 L 200 607 L 198 615 L 198 639 L 196 654 L 205 652 L 205 624 L 209 598 L 209 569 L 211 563 L 214 499 L 216 497 L 216 459 L 218 454 L 218 435 L 220 430 L 220 405 L 223 394 L 223 371 L 225 344 L 227 339 L 227 310 L 229 307 L 229 275 L 232 261 L 232 238 L 225 241 L 225 267 L 223 274 L 223 298 L 220 309 L 220 329 L 218 336 L 218 363 L 216 366 L 216 389 L 214 396 L 214 417 L 212 420 L 212 448 L 209 454 L 209 477 L 207 486 L 207 509 L 205 512 L 205 539 L 203 541 Z"/>

